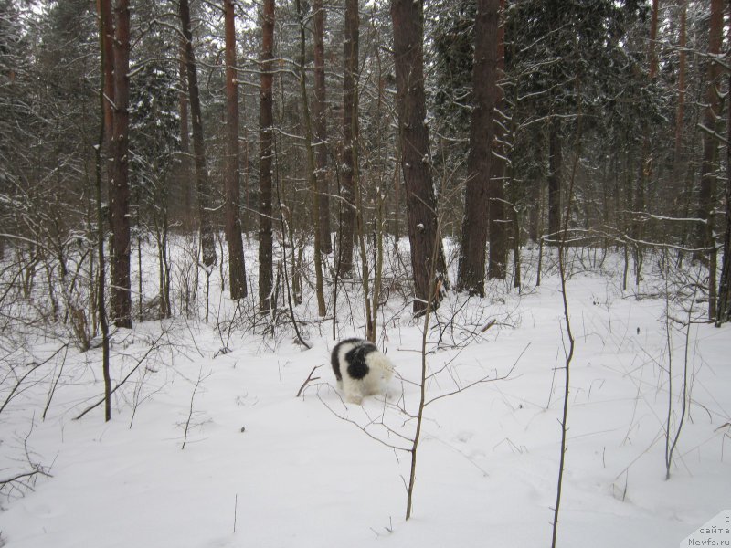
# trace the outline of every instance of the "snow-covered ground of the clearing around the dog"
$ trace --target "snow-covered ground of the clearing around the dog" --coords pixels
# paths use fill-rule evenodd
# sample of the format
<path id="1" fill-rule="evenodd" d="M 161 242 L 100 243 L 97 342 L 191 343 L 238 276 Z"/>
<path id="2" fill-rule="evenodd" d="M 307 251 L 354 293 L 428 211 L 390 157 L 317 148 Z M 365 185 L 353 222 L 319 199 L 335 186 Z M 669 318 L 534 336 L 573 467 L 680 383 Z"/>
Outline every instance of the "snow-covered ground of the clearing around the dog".
<path id="1" fill-rule="evenodd" d="M 665 299 L 657 273 L 639 296 L 620 278 L 609 259 L 567 283 L 576 353 L 559 546 L 677 546 L 731 507 L 731 326 L 698 321 L 705 304 L 691 295 Z M 5 486 L 0 545 L 550 545 L 567 337 L 555 271 L 532 284 L 521 294 L 494 284 L 466 303 L 450 293 L 432 317 L 433 403 L 408 522 L 410 456 L 399 448 L 416 425 L 423 322 L 391 295 L 379 345 L 397 376 L 386 399 L 346 405 L 329 367 L 332 319 L 318 323 L 311 300 L 298 307 L 309 350 L 287 325 L 245 331 L 214 281 L 208 322 L 178 316 L 114 334 L 114 383 L 134 371 L 110 423 L 102 406 L 74 420 L 101 396 L 100 349 L 64 348 L 27 377 L 0 413 L 0 479 L 30 463 L 48 476 Z M 362 300 L 341 294 L 338 306 L 339 336 L 362 335 Z M 60 346 L 40 340 L 32 352 Z M 668 407 L 674 436 L 686 364 L 687 415 L 666 480 Z M 0 405 L 14 385 L 2 385 Z"/>

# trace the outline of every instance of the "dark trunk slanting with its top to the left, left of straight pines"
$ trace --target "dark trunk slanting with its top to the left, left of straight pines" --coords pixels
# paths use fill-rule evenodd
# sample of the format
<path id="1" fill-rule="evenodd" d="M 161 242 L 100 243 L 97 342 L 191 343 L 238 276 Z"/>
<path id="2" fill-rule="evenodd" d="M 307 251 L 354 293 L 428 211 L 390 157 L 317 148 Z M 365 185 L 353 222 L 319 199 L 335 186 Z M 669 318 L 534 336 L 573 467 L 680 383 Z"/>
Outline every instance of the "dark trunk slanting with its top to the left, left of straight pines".
<path id="1" fill-rule="evenodd" d="M 198 72 L 193 50 L 193 33 L 190 29 L 190 8 L 188 0 L 180 0 L 180 21 L 185 37 L 185 68 L 188 75 L 188 99 L 190 100 L 191 126 L 193 129 L 193 155 L 196 163 L 196 194 L 198 197 L 198 226 L 203 264 L 210 268 L 216 264 L 216 241 L 211 219 L 210 184 L 206 166 L 206 144 L 203 136 L 200 97 L 198 94 Z"/>

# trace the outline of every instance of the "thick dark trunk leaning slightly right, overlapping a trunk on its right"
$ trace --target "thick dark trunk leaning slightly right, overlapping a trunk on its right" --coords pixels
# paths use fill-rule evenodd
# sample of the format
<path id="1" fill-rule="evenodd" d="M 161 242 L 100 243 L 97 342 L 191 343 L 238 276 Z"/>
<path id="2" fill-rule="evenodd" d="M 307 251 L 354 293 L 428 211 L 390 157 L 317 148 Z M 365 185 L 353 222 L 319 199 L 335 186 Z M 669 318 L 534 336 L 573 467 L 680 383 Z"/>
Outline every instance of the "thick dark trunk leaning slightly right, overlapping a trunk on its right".
<path id="1" fill-rule="evenodd" d="M 485 296 L 485 247 L 489 221 L 485 215 L 497 208 L 490 203 L 495 140 L 494 109 L 497 101 L 499 0 L 478 0 L 472 66 L 472 112 L 470 153 L 467 157 L 467 187 L 457 287 L 471 295 Z M 502 180 L 500 182 L 502 184 Z M 491 238 L 492 239 L 492 238 Z M 492 248 L 491 248 L 492 252 Z M 492 257 L 492 255 L 491 255 Z"/>

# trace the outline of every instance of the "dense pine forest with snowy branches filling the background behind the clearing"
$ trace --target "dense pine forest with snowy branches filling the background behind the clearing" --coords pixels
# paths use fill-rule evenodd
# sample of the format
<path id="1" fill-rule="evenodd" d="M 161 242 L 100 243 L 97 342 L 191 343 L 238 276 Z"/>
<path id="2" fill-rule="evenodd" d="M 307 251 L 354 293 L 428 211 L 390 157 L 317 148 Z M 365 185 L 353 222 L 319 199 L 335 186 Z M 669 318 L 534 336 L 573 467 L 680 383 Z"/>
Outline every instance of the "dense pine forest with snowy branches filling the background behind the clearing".
<path id="1" fill-rule="evenodd" d="M 623 254 L 625 286 L 652 252 L 694 261 L 708 320 L 728 321 L 727 15 L 720 0 L 0 0 L 4 325 L 61 322 L 88 348 L 197 312 L 171 275 L 186 260 L 195 291 L 220 269 L 264 315 L 308 291 L 332 315 L 326 295 L 355 281 L 375 339 L 384 257 L 407 238 L 415 314 L 488 279 L 520 287 L 526 246 L 570 246 Z"/>

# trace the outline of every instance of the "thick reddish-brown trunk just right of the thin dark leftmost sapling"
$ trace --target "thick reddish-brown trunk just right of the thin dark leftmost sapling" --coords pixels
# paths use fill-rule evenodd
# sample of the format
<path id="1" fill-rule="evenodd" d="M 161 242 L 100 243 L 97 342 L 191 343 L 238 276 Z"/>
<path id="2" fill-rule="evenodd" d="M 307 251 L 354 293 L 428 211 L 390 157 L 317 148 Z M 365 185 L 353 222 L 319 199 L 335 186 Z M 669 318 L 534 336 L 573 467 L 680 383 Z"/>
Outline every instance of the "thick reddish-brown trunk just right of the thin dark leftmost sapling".
<path id="1" fill-rule="evenodd" d="M 130 279 L 130 5 L 114 5 L 114 107 L 109 184 L 111 225 L 111 316 L 117 327 L 132 327 Z"/>

